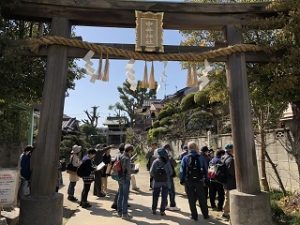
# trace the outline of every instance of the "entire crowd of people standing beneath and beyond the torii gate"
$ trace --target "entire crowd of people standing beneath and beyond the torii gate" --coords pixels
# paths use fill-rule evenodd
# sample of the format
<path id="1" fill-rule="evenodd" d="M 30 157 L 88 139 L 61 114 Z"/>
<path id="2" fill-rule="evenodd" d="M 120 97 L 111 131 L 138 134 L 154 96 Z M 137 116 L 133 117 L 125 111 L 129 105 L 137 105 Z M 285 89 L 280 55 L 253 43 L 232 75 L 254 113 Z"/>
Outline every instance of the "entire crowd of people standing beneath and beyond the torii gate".
<path id="1" fill-rule="evenodd" d="M 82 155 L 82 147 L 74 145 L 71 150 L 69 163 L 65 166 L 69 174 L 67 199 L 77 202 L 74 196 L 76 183 L 82 178 L 83 189 L 79 204 L 82 208 L 89 208 L 88 193 L 92 182 L 94 182 L 93 194 L 98 197 L 105 197 L 107 193 L 107 177 L 111 175 L 115 164 L 120 164 L 118 172 L 118 192 L 112 203 L 112 208 L 123 219 L 131 219 L 128 214 L 128 197 L 130 185 L 138 190 L 134 174 L 138 169 L 134 166 L 134 147 L 131 144 L 120 144 L 119 152 L 114 159 L 110 155 L 113 146 L 97 145 L 91 148 L 87 154 Z M 20 157 L 21 167 L 21 188 L 20 195 L 30 194 L 30 157 L 34 148 L 27 146 Z M 227 144 L 225 149 L 218 149 L 214 152 L 207 146 L 201 149 L 191 141 L 182 146 L 182 152 L 175 160 L 174 151 L 169 144 L 159 146 L 152 143 L 150 150 L 146 153 L 147 170 L 149 171 L 149 190 L 152 191 L 152 214 L 156 215 L 157 210 L 161 216 L 166 215 L 166 210 L 180 211 L 176 205 L 176 192 L 174 178 L 179 177 L 180 184 L 188 198 L 191 212 L 191 219 L 198 220 L 196 204 L 199 203 L 204 219 L 209 218 L 207 199 L 209 198 L 211 208 L 216 211 L 223 211 L 222 216 L 229 219 L 229 191 L 236 188 L 234 170 L 234 148 Z M 179 174 L 176 174 L 176 167 L 179 163 Z M 224 165 L 226 168 L 226 179 L 220 182 L 209 173 L 211 167 Z M 61 170 L 61 164 L 60 164 Z M 60 176 L 58 175 L 58 178 Z M 58 181 L 59 183 L 59 181 Z M 57 185 L 58 186 L 58 185 Z M 58 187 L 56 187 L 58 191 Z M 160 206 L 158 200 L 161 197 Z M 216 203 L 217 197 L 217 203 Z"/>

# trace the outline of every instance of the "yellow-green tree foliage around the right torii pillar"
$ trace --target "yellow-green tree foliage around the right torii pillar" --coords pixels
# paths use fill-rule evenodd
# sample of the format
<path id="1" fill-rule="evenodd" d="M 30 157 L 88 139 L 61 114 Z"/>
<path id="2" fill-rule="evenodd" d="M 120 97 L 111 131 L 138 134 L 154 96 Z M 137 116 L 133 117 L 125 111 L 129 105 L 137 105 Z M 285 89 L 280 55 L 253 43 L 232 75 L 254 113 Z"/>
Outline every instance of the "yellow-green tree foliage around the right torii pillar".
<path id="1" fill-rule="evenodd" d="M 220 3 L 224 1 L 199 0 L 197 2 Z M 258 1 L 236 0 L 230 2 Z M 297 122 L 300 118 L 300 116 L 297 116 L 297 113 L 299 115 L 300 112 L 299 5 L 300 2 L 297 0 L 275 1 L 272 4 L 273 8 L 279 9 L 284 13 L 276 19 L 253 21 L 251 26 L 257 29 L 250 31 L 245 30 L 243 33 L 245 43 L 266 45 L 273 48 L 274 55 L 278 55 L 278 52 L 280 53 L 280 57 L 276 60 L 276 63 L 247 64 L 249 91 L 254 116 L 253 122 L 255 131 L 261 134 L 261 168 L 263 177 L 265 177 L 264 162 L 265 154 L 267 154 L 265 132 L 270 128 L 276 127 L 283 110 L 289 102 L 292 103 L 295 118 L 293 128 L 290 127 L 290 136 L 292 140 L 291 146 L 293 147 L 289 148 L 288 152 L 295 156 L 300 171 L 300 124 Z M 270 29 L 265 29 L 266 27 L 276 23 L 277 27 L 278 24 L 283 24 L 283 28 L 275 30 L 272 29 L 272 27 L 269 27 Z M 264 30 L 260 30 L 260 28 Z M 194 37 L 195 34 L 196 33 L 188 31 L 183 32 L 183 35 L 187 38 L 184 43 L 187 45 L 199 44 L 201 39 L 206 37 L 204 45 L 210 46 L 211 43 L 214 43 L 213 40 L 224 40 L 224 35 L 219 32 L 197 31 L 197 35 L 199 34 L 197 38 Z M 228 102 L 227 100 L 224 101 L 224 99 L 227 98 L 225 83 L 218 81 L 215 82 L 216 80 L 214 78 L 218 78 L 218 76 L 210 77 L 210 79 L 213 80 L 212 83 L 214 87 L 209 87 L 208 89 L 215 90 L 214 92 L 210 92 L 210 99 L 219 100 L 224 103 Z M 295 142 L 295 140 L 297 141 Z"/>

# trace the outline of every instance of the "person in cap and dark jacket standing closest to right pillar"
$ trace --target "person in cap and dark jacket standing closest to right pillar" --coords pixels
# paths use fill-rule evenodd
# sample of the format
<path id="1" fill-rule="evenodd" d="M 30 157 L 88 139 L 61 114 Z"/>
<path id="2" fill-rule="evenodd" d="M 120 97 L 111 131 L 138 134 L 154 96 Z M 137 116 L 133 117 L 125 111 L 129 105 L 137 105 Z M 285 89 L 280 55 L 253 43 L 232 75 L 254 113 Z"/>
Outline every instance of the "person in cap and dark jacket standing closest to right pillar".
<path id="1" fill-rule="evenodd" d="M 230 218 L 229 192 L 230 190 L 236 189 L 233 144 L 227 144 L 225 146 L 225 155 L 222 156 L 221 161 L 226 165 L 226 182 L 223 184 L 225 190 L 225 203 L 223 206 L 222 217 L 229 219 Z"/>

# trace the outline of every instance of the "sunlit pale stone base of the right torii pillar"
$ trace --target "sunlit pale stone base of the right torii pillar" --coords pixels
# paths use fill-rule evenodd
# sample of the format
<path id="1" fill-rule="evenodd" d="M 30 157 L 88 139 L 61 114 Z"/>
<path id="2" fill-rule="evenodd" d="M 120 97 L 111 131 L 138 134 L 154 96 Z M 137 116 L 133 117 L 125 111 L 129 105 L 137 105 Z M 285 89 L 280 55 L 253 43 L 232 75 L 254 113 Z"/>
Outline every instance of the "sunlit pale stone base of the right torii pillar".
<path id="1" fill-rule="evenodd" d="M 231 225 L 272 225 L 269 195 L 230 191 L 230 222 Z"/>

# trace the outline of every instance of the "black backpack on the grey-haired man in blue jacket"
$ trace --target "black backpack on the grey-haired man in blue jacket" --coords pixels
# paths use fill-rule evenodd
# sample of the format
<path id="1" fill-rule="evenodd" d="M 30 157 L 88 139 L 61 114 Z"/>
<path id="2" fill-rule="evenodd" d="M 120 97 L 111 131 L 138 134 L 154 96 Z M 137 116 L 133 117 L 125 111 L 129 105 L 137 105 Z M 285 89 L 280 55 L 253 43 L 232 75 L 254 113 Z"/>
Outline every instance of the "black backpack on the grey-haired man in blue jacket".
<path id="1" fill-rule="evenodd" d="M 188 182 L 197 183 L 204 178 L 203 168 L 200 165 L 198 155 L 190 155 L 186 168 L 186 177 Z"/>

